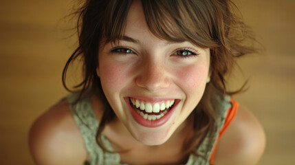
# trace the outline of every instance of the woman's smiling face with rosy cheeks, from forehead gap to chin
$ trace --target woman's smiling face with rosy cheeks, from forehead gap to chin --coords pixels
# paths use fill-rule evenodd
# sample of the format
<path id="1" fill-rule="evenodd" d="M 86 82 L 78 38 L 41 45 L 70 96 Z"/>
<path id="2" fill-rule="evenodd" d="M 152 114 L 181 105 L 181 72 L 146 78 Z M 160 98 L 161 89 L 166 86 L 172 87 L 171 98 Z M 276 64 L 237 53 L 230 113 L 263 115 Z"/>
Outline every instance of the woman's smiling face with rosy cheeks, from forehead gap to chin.
<path id="1" fill-rule="evenodd" d="M 147 145 L 168 140 L 204 94 L 210 50 L 155 37 L 140 1 L 127 16 L 123 39 L 105 43 L 97 69 L 102 89 L 120 124 Z"/>

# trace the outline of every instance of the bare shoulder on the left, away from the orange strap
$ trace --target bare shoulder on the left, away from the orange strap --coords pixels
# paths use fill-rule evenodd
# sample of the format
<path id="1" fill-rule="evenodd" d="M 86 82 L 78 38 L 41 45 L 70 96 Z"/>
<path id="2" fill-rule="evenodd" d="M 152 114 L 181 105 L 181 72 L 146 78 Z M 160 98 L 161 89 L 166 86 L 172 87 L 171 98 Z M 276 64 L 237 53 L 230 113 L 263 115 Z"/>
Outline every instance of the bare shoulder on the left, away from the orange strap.
<path id="1" fill-rule="evenodd" d="M 30 129 L 29 143 L 36 164 L 83 164 L 87 157 L 67 100 L 36 119 Z"/>

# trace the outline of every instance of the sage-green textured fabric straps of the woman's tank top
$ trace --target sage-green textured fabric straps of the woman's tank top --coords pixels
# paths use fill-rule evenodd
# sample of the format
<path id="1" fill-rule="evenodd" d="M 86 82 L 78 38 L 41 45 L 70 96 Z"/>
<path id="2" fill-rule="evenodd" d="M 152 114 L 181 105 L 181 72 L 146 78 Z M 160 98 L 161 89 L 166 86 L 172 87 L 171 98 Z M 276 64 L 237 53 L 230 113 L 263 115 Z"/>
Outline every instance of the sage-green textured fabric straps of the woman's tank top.
<path id="1" fill-rule="evenodd" d="M 96 131 L 98 129 L 98 121 L 91 107 L 89 97 L 83 98 L 74 105 L 76 96 L 67 96 L 70 109 L 74 116 L 74 120 L 83 135 L 85 148 L 89 154 L 88 162 L 91 165 L 118 165 L 120 164 L 120 155 L 118 153 L 107 153 L 96 143 Z M 217 96 L 211 100 L 214 109 L 217 109 L 217 126 L 216 129 L 206 135 L 204 142 L 198 148 L 197 152 L 204 157 L 190 155 L 186 165 L 210 165 L 210 155 L 219 137 L 219 132 L 223 128 L 228 109 L 232 107 L 230 96 Z M 212 137 L 212 138 L 210 138 Z M 110 142 L 102 135 L 102 142 L 107 149 L 113 151 Z"/>

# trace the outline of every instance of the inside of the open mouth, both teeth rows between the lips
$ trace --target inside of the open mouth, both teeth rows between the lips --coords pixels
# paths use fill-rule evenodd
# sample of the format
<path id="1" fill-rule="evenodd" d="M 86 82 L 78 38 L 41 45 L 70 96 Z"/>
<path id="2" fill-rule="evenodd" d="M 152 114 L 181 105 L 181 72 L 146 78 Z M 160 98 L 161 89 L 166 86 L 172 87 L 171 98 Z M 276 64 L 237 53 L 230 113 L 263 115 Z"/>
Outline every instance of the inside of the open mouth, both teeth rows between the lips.
<path id="1" fill-rule="evenodd" d="M 132 109 L 144 118 L 144 120 L 154 121 L 163 118 L 175 105 L 175 100 L 165 100 L 162 102 L 143 102 L 135 98 L 129 98 Z"/>

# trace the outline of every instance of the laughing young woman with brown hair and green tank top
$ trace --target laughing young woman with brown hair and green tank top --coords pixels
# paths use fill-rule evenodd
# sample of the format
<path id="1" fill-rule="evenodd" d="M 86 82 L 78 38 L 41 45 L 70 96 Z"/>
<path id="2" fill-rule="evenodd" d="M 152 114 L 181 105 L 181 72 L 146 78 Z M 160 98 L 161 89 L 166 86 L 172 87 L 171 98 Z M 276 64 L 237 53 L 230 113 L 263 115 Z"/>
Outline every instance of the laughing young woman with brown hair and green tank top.
<path id="1" fill-rule="evenodd" d="M 233 9 L 227 0 L 85 1 L 63 72 L 65 82 L 82 57 L 82 89 L 34 122 L 36 164 L 256 164 L 263 129 L 226 90 L 234 58 L 254 52 Z"/>

